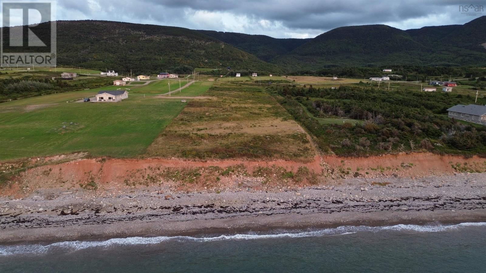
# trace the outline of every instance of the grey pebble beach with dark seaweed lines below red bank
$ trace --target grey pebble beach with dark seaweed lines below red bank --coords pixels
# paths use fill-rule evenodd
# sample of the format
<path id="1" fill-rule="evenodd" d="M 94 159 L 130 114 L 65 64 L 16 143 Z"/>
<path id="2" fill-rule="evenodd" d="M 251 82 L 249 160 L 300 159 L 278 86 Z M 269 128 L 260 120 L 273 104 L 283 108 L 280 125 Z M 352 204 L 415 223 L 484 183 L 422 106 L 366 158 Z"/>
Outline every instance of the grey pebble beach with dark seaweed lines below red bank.
<path id="1" fill-rule="evenodd" d="M 0 198 L 0 244 L 227 234 L 340 225 L 486 222 L 486 175 L 348 179 L 299 190 Z"/>

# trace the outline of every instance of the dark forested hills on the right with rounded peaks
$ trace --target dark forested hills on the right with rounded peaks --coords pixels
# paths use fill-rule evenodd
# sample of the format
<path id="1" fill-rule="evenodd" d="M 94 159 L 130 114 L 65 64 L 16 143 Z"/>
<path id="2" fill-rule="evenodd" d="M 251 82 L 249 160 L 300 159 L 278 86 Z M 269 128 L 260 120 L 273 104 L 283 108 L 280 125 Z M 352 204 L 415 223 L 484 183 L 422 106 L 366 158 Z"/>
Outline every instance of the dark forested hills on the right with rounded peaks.
<path id="1" fill-rule="evenodd" d="M 402 31 L 386 25 L 341 27 L 273 60 L 281 66 L 486 66 L 486 16 L 464 25 Z"/>

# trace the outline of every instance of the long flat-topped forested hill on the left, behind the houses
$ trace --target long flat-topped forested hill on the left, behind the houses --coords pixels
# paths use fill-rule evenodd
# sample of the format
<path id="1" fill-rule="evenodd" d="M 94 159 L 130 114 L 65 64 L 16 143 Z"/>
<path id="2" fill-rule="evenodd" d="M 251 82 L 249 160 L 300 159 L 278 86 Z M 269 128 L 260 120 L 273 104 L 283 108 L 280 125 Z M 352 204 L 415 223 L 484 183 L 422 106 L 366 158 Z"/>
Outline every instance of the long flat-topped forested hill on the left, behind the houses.
<path id="1" fill-rule="evenodd" d="M 112 21 L 57 21 L 58 65 L 185 73 L 192 68 L 278 72 L 276 65 L 197 31 Z"/>

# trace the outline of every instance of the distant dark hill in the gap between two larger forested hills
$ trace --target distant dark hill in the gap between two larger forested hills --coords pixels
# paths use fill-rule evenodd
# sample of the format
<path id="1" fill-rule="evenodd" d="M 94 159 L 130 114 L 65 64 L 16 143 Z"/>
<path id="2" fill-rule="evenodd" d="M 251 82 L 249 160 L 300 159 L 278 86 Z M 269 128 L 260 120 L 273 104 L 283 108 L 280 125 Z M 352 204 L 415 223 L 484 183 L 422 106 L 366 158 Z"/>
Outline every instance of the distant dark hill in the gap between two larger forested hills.
<path id="1" fill-rule="evenodd" d="M 218 32 L 211 30 L 198 30 L 198 32 L 216 38 L 220 41 L 235 46 L 243 51 L 251 53 L 265 62 L 273 58 L 285 55 L 309 39 L 273 38 L 266 35 L 251 35 L 234 32 Z"/>

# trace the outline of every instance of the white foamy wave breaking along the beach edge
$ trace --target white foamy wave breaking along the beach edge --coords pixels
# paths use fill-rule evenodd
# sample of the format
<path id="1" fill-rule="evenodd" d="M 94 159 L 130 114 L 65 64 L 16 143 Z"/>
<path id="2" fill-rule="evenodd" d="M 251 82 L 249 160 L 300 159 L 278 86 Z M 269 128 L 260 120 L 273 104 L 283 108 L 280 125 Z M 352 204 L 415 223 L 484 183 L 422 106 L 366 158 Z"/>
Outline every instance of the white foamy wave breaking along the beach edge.
<path id="1" fill-rule="evenodd" d="M 317 236 L 336 236 L 349 235 L 357 232 L 380 232 L 383 230 L 392 231 L 414 231 L 414 232 L 440 232 L 463 228 L 467 226 L 486 226 L 486 222 L 466 222 L 454 225 L 413 225 L 413 224 L 398 224 L 393 226 L 340 226 L 336 228 L 327 228 L 315 231 L 295 232 L 295 233 L 279 233 L 279 234 L 236 234 L 236 235 L 221 235 L 217 237 L 190 237 L 190 236 L 159 236 L 159 237 L 129 237 L 129 238 L 115 238 L 104 241 L 65 241 L 57 242 L 49 245 L 15 245 L 15 246 L 0 246 L 0 256 L 9 256 L 15 254 L 43 254 L 52 250 L 62 249 L 63 251 L 76 251 L 93 247 L 110 247 L 110 246 L 127 246 L 127 245 L 148 245 L 158 244 L 164 241 L 221 241 L 221 240 L 254 240 L 254 239 L 275 239 L 275 238 L 305 238 Z"/>

